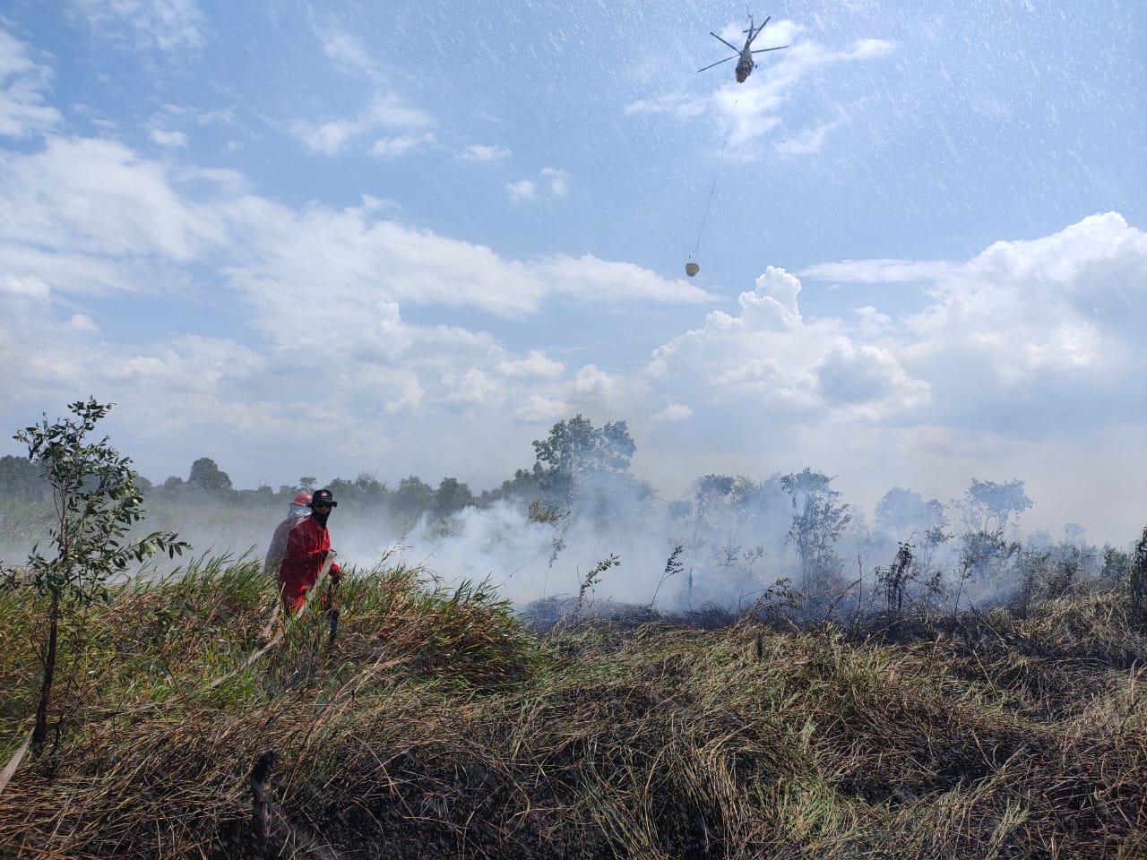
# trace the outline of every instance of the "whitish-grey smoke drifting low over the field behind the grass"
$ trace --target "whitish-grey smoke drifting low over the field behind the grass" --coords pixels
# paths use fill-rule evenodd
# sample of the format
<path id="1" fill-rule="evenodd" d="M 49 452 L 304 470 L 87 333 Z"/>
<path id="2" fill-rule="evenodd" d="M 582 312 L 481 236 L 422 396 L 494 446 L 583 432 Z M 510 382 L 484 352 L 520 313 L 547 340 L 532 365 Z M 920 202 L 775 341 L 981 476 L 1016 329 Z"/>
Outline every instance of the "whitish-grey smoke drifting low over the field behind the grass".
<path id="1" fill-rule="evenodd" d="M 545 599 L 578 595 L 587 576 L 614 557 L 618 563 L 600 571 L 586 591 L 588 601 L 655 603 L 674 613 L 744 610 L 787 588 L 816 592 L 822 605 L 842 615 L 881 610 L 881 569 L 892 564 L 900 542 L 910 544 L 913 558 L 907 603 L 953 611 L 1037 586 L 1061 587 L 1103 566 L 1103 550 L 1090 545 L 1078 525 L 1066 526 L 1060 540 L 1046 531 L 1024 534 L 1014 518 L 1006 531 L 977 532 L 952 525 L 957 502 L 921 506 L 922 498 L 911 491 L 889 493 L 900 503 L 879 507 L 877 527 L 869 527 L 864 511 L 832 482 L 807 469 L 762 480 L 709 475 L 681 498 L 665 499 L 626 474 L 601 472 L 575 480 L 561 501 L 525 493 L 445 517 L 424 513 L 413 524 L 385 505 L 343 499 L 328 525 L 344 568 L 405 564 L 422 571 L 428 585 L 445 588 L 487 580 L 520 611 Z M 251 553 L 260 561 L 288 515 L 287 503 L 270 492 L 248 494 L 243 503 L 235 497 L 185 494 L 147 508 L 142 531 L 175 531 L 192 544 L 194 556 Z M 33 542 L 42 542 L 48 521 L 36 510 L 0 508 L 5 561 L 22 561 Z M 894 514 L 915 525 L 897 527 Z M 163 558 L 153 569 L 186 561 Z"/>

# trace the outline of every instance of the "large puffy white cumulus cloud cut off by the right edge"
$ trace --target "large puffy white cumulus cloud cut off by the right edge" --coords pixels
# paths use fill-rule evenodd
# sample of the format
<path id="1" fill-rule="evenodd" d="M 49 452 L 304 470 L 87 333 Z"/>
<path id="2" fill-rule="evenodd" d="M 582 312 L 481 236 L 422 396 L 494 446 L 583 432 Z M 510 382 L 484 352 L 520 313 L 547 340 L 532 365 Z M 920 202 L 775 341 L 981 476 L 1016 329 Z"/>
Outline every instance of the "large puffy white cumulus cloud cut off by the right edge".
<path id="1" fill-rule="evenodd" d="M 907 320 L 906 363 L 933 380 L 937 420 L 1005 432 L 1147 417 L 1147 236 L 1114 213 L 997 242 L 937 280 Z"/>

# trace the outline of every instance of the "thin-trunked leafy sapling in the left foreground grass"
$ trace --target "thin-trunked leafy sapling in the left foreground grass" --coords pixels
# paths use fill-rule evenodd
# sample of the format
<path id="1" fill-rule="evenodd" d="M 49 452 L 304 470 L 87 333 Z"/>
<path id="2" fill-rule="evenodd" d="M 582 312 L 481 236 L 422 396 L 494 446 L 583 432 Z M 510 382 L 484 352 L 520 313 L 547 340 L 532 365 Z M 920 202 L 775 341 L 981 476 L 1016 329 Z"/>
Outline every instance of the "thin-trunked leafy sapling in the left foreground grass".
<path id="1" fill-rule="evenodd" d="M 39 544 L 28 557 L 26 573 L 3 570 L 8 587 L 26 583 L 39 599 L 48 600 L 48 624 L 41 644 L 44 679 L 36 706 L 32 750 L 39 755 L 47 736 L 48 706 L 55 680 L 60 623 L 96 599 L 108 601 L 108 578 L 125 573 L 130 562 L 142 562 L 155 553 L 182 553 L 187 544 L 174 532 L 153 532 L 132 540 L 128 531 L 143 518 L 143 499 L 131 460 L 120 456 L 108 437 L 87 440 L 114 404 L 78 400 L 68 409 L 75 417 L 48 423 L 47 414 L 34 427 L 15 435 L 28 445 L 28 459 L 39 464 L 55 501 L 55 523 L 49 530 L 54 550 L 41 554 Z M 56 741 L 60 738 L 56 728 Z"/>

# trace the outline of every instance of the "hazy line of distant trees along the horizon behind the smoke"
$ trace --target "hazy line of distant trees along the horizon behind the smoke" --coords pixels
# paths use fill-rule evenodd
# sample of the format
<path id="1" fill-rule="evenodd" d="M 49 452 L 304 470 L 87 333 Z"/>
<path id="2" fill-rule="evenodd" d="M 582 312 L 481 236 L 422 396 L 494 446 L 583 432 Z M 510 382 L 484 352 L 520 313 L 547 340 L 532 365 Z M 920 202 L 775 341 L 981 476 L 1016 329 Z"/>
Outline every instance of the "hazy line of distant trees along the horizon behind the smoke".
<path id="1" fill-rule="evenodd" d="M 1063 565 L 1084 573 L 1117 568 L 1126 555 L 1113 547 L 1089 547 L 1083 530 L 1071 524 L 1066 526 L 1063 541 L 1037 534 L 1021 545 L 1015 526 L 1033 502 L 1024 482 L 1015 478 L 973 478 L 963 495 L 947 505 L 910 488 L 892 487 L 877 502 L 869 526 L 864 513 L 834 487 L 835 478 L 811 467 L 759 480 L 742 475 L 704 475 L 693 482 L 688 495 L 662 503 L 649 484 L 630 474 L 637 446 L 624 420 L 595 427 L 579 413 L 556 422 L 532 447 L 531 467 L 518 468 L 499 486 L 477 493 L 454 477 L 444 477 L 434 486 L 409 475 L 391 486 L 367 471 L 323 484 L 314 476 L 302 476 L 278 490 L 266 485 L 237 490 L 208 456 L 196 459 L 186 478 L 171 476 L 153 484 L 135 476 L 135 487 L 148 502 L 228 502 L 271 511 L 301 490 L 327 486 L 344 515 L 387 516 L 403 531 L 423 519 L 445 529 L 467 509 L 481 510 L 499 502 L 515 505 L 531 519 L 555 526 L 569 518 L 587 518 L 615 529 L 638 527 L 662 517 L 658 525 L 680 535 L 682 553 L 692 553 L 694 566 L 720 566 L 751 577 L 766 547 L 786 547 L 795 556 L 801 587 L 814 592 L 842 576 L 846 558 L 841 544 L 845 538 L 850 553 L 877 550 L 891 557 L 897 547 L 904 547 L 896 555 L 898 561 L 888 568 L 898 564 L 899 572 L 888 576 L 905 583 L 934 576 L 931 560 L 937 553 L 959 576 L 980 581 L 1005 570 L 1015 572 L 1017 566 L 1046 568 L 1053 564 L 1053 556 L 1070 555 L 1069 544 L 1076 547 L 1076 555 Z M 16 456 L 0 458 L 0 488 L 6 497 L 25 501 L 47 499 L 52 492 L 42 464 Z M 707 554 L 703 560 L 702 553 Z"/>

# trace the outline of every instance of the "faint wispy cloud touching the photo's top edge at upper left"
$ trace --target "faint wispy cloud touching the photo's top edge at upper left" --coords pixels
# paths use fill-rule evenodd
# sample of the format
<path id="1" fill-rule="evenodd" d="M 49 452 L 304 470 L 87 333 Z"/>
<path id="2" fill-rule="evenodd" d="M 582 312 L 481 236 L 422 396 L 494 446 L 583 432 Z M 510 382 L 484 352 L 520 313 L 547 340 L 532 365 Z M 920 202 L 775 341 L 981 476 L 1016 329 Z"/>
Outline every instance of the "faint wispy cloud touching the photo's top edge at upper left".
<path id="1" fill-rule="evenodd" d="M 71 0 L 91 28 L 122 47 L 196 52 L 206 18 L 195 0 Z"/>

